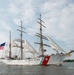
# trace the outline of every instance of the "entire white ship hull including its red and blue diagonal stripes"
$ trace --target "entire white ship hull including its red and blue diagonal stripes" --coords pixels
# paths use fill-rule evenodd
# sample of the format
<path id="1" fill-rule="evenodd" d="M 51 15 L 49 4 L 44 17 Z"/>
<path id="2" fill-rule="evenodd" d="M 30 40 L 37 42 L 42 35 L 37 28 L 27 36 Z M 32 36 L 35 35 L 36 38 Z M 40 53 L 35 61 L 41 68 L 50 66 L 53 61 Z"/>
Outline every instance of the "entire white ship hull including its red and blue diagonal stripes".
<path id="1" fill-rule="evenodd" d="M 38 59 L 24 59 L 24 60 L 2 60 L 7 65 L 60 65 L 65 58 L 64 54 L 52 54 L 51 56 L 40 57 Z"/>

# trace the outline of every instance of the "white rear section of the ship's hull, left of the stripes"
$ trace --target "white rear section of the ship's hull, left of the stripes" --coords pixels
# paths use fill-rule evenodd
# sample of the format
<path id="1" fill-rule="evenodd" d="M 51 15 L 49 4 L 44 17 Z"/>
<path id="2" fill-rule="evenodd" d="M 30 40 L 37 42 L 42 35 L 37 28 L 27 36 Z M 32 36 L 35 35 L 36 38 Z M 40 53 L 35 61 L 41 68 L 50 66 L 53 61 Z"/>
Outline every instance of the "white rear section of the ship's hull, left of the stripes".
<path id="1" fill-rule="evenodd" d="M 7 65 L 39 65 L 41 59 L 3 60 Z"/>

